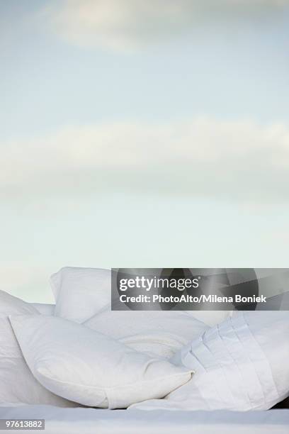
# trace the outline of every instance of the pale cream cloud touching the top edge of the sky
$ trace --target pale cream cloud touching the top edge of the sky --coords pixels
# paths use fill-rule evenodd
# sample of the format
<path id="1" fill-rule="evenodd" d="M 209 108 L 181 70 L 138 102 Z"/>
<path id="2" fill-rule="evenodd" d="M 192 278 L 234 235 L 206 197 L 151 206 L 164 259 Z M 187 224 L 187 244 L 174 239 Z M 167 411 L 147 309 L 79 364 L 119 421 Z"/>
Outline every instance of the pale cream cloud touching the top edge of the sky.
<path id="1" fill-rule="evenodd" d="M 42 10 L 48 26 L 69 43 L 131 51 L 170 40 L 198 25 L 227 23 L 282 11 L 288 0 L 57 0 Z"/>

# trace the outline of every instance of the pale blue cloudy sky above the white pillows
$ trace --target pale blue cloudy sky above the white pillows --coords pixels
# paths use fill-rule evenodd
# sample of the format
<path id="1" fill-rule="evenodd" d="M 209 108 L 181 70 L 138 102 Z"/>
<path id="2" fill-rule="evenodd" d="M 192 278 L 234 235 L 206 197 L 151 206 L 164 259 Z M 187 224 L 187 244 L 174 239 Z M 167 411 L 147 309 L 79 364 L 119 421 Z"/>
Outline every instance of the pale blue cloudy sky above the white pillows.
<path id="1" fill-rule="evenodd" d="M 0 282 L 289 267 L 288 0 L 0 0 Z"/>

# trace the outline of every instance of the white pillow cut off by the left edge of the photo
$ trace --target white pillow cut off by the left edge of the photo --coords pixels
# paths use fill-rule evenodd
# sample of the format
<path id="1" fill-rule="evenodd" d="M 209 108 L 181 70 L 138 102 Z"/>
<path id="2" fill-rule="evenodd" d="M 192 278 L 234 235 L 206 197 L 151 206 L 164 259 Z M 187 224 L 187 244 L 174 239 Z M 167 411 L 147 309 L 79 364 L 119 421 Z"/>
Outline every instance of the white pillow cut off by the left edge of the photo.
<path id="1" fill-rule="evenodd" d="M 23 358 L 8 315 L 37 315 L 33 306 L 0 291 L 0 404 L 75 406 L 46 390 L 31 374 Z"/>

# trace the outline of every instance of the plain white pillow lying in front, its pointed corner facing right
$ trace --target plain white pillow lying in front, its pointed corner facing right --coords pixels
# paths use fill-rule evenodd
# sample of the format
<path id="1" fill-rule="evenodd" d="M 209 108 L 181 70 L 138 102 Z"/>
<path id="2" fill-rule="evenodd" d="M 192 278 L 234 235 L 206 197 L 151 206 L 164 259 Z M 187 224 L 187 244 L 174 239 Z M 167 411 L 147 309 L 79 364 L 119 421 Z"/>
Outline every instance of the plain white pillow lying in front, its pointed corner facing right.
<path id="1" fill-rule="evenodd" d="M 72 321 L 40 315 L 10 321 L 38 381 L 86 406 L 125 408 L 162 398 L 191 379 L 191 369 L 151 358 Z"/>

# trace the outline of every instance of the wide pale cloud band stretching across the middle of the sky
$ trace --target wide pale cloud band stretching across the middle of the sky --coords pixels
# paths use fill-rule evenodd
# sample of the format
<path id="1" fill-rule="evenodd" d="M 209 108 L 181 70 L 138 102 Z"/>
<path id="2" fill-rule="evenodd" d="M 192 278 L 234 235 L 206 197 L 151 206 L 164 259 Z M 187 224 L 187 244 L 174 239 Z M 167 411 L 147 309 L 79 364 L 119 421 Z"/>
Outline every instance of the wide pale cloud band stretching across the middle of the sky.
<path id="1" fill-rule="evenodd" d="M 111 191 L 288 202 L 289 126 L 198 117 L 67 127 L 1 144 L 0 195 Z"/>

